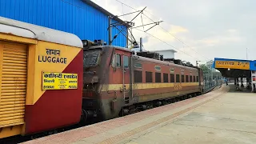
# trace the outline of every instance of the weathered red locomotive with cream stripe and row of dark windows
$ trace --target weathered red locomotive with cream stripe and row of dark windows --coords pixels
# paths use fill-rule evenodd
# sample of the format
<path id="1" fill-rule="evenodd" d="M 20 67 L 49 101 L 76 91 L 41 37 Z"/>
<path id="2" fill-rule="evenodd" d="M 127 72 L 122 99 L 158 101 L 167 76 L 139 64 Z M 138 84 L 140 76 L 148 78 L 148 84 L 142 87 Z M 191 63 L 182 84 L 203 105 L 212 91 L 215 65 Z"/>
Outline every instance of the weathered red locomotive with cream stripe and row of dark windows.
<path id="1" fill-rule="evenodd" d="M 146 110 L 172 98 L 202 94 L 202 70 L 132 54 L 116 46 L 84 50 L 82 109 L 106 120 Z"/>

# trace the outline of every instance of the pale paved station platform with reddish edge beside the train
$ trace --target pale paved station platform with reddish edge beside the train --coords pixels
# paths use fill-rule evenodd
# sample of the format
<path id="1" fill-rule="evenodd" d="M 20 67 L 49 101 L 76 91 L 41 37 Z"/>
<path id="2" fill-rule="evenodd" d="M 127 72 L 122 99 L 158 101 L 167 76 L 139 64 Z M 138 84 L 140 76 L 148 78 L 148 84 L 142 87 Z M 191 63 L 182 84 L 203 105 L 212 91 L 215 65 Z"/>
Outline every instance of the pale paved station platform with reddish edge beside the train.
<path id="1" fill-rule="evenodd" d="M 24 144 L 256 143 L 256 94 L 234 85 Z"/>

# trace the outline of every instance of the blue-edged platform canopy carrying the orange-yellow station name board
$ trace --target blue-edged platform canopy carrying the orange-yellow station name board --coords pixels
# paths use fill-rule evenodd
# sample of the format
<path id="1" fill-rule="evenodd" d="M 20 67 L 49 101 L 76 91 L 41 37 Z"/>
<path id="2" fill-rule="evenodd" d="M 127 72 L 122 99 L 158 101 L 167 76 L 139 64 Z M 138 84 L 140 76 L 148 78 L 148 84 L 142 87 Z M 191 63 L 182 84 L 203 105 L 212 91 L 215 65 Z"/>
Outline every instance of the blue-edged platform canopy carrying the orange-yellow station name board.
<path id="1" fill-rule="evenodd" d="M 249 78 L 250 70 L 256 70 L 256 61 L 214 58 L 213 67 L 226 78 Z"/>

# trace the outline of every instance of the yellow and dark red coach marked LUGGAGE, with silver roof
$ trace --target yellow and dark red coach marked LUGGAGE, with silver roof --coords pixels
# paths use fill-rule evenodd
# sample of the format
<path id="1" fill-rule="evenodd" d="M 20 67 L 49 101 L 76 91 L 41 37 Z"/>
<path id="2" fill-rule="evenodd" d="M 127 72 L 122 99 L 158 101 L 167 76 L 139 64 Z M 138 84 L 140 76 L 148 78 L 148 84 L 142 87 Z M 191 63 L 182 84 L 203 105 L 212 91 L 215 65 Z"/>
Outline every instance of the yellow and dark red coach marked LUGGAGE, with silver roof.
<path id="1" fill-rule="evenodd" d="M 0 138 L 78 123 L 82 41 L 0 17 Z"/>

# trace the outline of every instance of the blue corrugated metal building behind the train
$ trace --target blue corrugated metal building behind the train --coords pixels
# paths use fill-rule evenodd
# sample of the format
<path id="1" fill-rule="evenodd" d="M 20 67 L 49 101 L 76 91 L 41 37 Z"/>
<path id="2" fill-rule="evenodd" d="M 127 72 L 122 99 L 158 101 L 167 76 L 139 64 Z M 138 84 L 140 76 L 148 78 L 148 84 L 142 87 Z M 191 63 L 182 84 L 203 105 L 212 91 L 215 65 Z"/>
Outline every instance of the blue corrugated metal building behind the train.
<path id="1" fill-rule="evenodd" d="M 114 14 L 90 0 L 1 0 L 0 16 L 75 34 L 82 40 L 108 42 L 108 17 Z M 112 45 L 125 47 L 127 25 L 117 17 L 111 23 L 117 22 L 123 34 L 113 28 L 112 38 L 119 34 Z"/>

